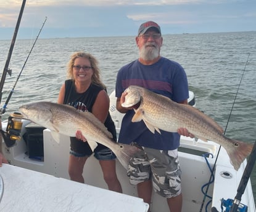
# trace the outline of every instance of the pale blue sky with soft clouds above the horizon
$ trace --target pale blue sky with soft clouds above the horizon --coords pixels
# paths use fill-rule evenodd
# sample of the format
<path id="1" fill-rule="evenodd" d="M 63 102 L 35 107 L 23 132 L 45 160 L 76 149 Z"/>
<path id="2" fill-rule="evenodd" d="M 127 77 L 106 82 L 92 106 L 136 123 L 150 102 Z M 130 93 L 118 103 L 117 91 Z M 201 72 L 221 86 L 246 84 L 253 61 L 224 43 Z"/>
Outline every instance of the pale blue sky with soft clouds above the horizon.
<path id="1" fill-rule="evenodd" d="M 12 39 L 23 0 L 0 1 L 0 39 Z M 141 23 L 162 34 L 256 31 L 255 0 L 27 0 L 17 39 L 136 36 Z"/>

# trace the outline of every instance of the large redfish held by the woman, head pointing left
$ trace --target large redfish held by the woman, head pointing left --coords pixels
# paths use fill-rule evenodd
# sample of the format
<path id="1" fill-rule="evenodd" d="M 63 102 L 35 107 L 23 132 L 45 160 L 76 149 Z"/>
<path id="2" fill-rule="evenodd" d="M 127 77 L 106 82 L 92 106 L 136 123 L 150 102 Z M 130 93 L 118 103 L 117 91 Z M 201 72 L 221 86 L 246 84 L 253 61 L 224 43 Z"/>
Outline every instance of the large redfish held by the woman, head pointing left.
<path id="1" fill-rule="evenodd" d="M 136 146 L 116 143 L 105 125 L 91 112 L 80 112 L 72 106 L 47 101 L 23 105 L 20 112 L 25 119 L 49 128 L 53 138 L 58 142 L 59 134 L 75 137 L 76 131 L 80 130 L 92 150 L 97 143 L 109 147 L 126 169 L 131 156 L 141 151 Z"/>

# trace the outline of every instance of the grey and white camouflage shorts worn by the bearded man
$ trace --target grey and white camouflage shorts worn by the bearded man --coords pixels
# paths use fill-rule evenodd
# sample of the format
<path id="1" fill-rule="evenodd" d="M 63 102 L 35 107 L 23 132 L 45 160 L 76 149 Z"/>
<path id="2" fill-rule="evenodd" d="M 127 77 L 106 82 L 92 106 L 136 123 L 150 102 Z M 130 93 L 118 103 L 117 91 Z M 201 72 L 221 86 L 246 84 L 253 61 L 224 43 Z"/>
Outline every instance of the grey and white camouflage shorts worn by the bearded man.
<path id="1" fill-rule="evenodd" d="M 144 147 L 134 155 L 128 167 L 130 183 L 136 185 L 152 178 L 153 188 L 162 197 L 181 194 L 181 169 L 178 150 L 160 151 Z"/>

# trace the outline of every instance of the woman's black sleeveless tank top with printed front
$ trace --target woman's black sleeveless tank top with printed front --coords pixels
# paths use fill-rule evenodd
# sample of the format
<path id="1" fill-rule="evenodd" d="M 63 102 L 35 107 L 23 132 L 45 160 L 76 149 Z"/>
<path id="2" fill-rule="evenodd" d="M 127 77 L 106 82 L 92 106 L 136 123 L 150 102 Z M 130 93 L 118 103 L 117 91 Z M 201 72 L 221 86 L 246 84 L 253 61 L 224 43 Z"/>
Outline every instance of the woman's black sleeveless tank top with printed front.
<path id="1" fill-rule="evenodd" d="M 89 111 L 93 109 L 93 104 L 97 98 L 97 95 L 101 90 L 104 90 L 99 85 L 91 84 L 89 88 L 84 93 L 77 93 L 75 90 L 75 81 L 68 79 L 65 80 L 65 96 L 64 104 L 75 107 L 78 111 Z M 110 113 L 107 115 L 107 119 L 104 123 L 107 130 L 113 135 L 114 141 L 117 141 L 117 132 L 115 130 L 115 124 L 110 116 Z M 86 144 L 86 145 L 85 145 Z M 87 142 L 83 142 L 75 137 L 70 138 L 70 147 L 73 151 L 80 153 L 81 147 L 89 147 Z M 106 148 L 102 144 L 98 144 L 97 150 Z"/>

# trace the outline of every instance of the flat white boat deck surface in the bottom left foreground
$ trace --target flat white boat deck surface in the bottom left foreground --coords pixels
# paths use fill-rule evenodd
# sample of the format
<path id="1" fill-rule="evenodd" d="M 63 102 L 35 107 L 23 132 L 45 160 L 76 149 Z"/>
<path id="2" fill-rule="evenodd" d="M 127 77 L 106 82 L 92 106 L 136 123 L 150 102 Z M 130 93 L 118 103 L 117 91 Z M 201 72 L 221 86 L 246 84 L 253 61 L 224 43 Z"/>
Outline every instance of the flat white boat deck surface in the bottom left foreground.
<path id="1" fill-rule="evenodd" d="M 146 212 L 149 207 L 141 198 L 12 165 L 4 164 L 0 174 L 1 212 Z"/>

